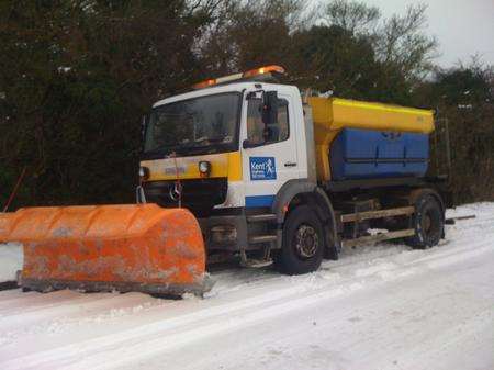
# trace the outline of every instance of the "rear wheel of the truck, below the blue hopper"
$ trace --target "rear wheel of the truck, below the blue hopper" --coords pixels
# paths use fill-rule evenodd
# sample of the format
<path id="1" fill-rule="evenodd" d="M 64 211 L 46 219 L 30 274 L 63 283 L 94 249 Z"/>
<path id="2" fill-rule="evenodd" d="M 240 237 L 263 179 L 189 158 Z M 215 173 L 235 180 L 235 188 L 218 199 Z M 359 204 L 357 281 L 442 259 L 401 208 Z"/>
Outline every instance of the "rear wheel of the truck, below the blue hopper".
<path id="1" fill-rule="evenodd" d="M 424 194 L 415 203 L 413 217 L 415 235 L 405 239 L 405 243 L 415 249 L 427 249 L 438 245 L 444 235 L 445 217 L 438 200 Z"/>

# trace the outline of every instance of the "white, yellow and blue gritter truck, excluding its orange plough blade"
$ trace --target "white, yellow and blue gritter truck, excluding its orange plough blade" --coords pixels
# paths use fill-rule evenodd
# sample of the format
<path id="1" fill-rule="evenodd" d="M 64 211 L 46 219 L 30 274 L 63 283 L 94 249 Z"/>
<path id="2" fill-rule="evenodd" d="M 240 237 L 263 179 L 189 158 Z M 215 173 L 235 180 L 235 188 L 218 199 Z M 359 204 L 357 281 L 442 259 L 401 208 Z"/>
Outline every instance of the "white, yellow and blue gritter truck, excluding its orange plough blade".
<path id="1" fill-rule="evenodd" d="M 426 178 L 434 112 L 312 97 L 268 66 L 157 102 L 144 125 L 141 201 L 189 209 L 210 261 L 237 254 L 294 274 L 341 247 L 444 237 Z"/>

